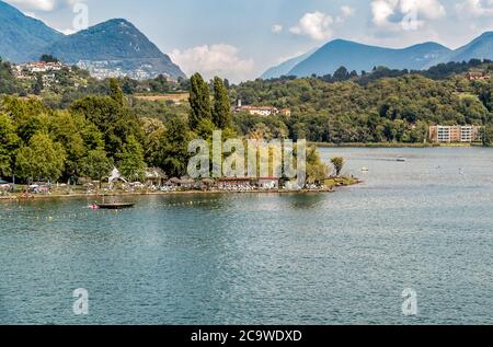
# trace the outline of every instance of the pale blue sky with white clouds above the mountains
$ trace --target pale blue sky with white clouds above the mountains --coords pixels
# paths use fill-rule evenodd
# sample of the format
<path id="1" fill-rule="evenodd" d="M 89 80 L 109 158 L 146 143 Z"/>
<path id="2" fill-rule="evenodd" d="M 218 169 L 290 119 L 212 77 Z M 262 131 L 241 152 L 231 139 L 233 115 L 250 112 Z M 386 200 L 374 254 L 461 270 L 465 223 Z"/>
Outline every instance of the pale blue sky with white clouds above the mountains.
<path id="1" fill-rule="evenodd" d="M 7 0 L 70 34 L 114 18 L 133 22 L 186 74 L 255 79 L 344 38 L 386 47 L 450 48 L 493 31 L 493 0 Z"/>

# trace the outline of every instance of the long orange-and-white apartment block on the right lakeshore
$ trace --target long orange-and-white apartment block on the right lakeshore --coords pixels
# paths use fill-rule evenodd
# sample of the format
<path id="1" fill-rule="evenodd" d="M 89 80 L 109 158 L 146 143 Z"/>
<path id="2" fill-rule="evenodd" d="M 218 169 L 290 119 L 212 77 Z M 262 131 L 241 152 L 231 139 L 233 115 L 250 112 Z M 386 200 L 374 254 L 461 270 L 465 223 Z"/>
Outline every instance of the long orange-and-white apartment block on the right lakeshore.
<path id="1" fill-rule="evenodd" d="M 480 126 L 432 126 L 428 138 L 433 143 L 471 143 L 481 141 Z"/>

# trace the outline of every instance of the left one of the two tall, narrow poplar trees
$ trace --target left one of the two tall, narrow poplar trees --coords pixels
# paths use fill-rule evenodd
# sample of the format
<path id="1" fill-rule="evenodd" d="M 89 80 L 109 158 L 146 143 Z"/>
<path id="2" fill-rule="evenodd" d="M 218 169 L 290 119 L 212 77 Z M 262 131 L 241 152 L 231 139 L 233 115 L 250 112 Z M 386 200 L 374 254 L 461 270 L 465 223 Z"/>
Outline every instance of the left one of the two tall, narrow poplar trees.
<path id="1" fill-rule="evenodd" d="M 188 125 L 195 130 L 202 119 L 211 119 L 210 93 L 209 86 L 197 72 L 192 76 L 190 86 L 190 106 Z"/>

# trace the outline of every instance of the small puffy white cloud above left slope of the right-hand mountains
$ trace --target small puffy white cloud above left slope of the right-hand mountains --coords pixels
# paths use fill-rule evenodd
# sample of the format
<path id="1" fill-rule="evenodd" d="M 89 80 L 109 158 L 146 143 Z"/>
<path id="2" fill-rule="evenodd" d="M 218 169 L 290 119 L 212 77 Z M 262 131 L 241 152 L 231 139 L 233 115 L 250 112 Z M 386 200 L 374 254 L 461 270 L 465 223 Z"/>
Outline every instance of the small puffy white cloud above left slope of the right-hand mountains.
<path id="1" fill-rule="evenodd" d="M 329 14 L 322 12 L 306 13 L 298 25 L 289 31 L 296 35 L 306 35 L 317 41 L 324 41 L 332 37 L 331 25 L 334 20 Z"/>

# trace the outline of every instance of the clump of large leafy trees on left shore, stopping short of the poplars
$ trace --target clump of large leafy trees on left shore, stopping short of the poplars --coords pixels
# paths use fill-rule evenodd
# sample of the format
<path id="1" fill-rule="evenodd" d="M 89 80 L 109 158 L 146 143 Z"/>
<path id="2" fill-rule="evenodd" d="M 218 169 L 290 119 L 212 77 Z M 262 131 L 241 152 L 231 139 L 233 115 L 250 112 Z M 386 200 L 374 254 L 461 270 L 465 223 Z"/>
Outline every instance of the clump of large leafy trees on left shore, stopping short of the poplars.
<path id="1" fill-rule="evenodd" d="M 107 96 L 87 96 L 66 111 L 51 109 L 36 99 L 3 97 L 0 175 L 25 182 L 100 180 L 113 164 L 129 177 L 140 175 L 141 127 L 115 81 L 112 91 Z"/>

